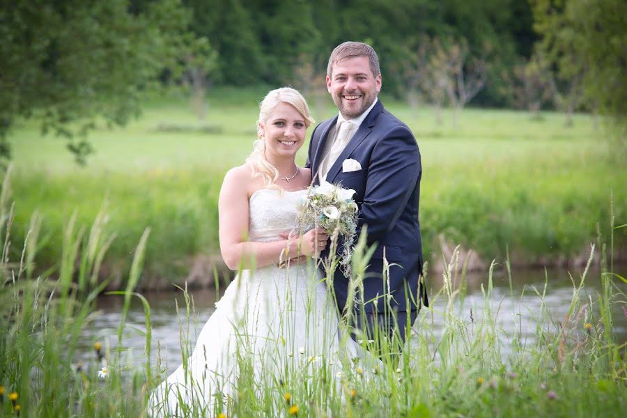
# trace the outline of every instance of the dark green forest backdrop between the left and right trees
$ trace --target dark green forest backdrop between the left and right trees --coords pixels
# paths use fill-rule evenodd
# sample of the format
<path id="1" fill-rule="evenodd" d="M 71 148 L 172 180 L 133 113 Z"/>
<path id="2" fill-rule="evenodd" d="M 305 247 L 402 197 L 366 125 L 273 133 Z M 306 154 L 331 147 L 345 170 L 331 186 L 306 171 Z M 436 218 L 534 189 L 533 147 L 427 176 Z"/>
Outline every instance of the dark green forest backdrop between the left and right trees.
<path id="1" fill-rule="evenodd" d="M 427 65 L 425 44 L 433 48 L 433 41 L 438 40 L 445 52 L 454 45 L 462 47 L 465 56 L 458 58 L 465 60 L 467 77 L 487 80 L 474 104 L 509 107 L 515 105 L 515 98 L 504 88 L 504 74 L 532 56 L 538 38 L 532 8 L 520 0 L 184 3 L 192 12 L 192 31 L 206 37 L 217 52 L 210 76 L 213 84 L 263 82 L 314 88 L 310 79 L 320 83 L 333 47 L 345 40 L 360 40 L 379 54 L 386 93 L 398 98 L 410 98 L 412 93 L 429 96 L 417 82 L 417 77 L 428 77 L 416 72 Z M 477 64 L 482 68 L 472 68 Z M 477 70 L 486 74 L 475 74 Z M 442 100 L 447 100 L 446 92 L 442 93 Z"/>

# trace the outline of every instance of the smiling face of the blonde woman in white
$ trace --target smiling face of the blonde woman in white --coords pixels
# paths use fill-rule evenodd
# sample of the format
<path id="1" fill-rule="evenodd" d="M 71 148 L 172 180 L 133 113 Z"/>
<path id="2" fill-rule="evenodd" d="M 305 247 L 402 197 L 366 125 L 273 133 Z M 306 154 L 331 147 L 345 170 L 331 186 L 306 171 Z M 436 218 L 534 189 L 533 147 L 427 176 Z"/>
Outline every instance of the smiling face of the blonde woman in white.
<path id="1" fill-rule="evenodd" d="M 277 104 L 259 128 L 265 141 L 265 158 L 271 163 L 277 158 L 295 157 L 307 132 L 303 116 L 286 102 Z"/>

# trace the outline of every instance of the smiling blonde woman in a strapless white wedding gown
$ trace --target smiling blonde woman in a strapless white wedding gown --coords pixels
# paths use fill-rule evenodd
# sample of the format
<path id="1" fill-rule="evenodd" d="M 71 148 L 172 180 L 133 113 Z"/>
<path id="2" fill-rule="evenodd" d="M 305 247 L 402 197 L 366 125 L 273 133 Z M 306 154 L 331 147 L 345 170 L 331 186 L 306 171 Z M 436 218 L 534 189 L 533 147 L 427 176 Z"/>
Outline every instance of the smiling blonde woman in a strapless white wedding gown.
<path id="1" fill-rule="evenodd" d="M 313 122 L 293 88 L 270 91 L 261 102 L 254 151 L 226 173 L 219 195 L 220 250 L 240 274 L 192 355 L 150 395 L 153 417 L 218 415 L 245 373 L 269 387 L 302 364 L 355 356 L 316 275 L 315 258 L 329 237 L 321 229 L 299 231 L 296 222 L 311 171 L 295 156 Z"/>

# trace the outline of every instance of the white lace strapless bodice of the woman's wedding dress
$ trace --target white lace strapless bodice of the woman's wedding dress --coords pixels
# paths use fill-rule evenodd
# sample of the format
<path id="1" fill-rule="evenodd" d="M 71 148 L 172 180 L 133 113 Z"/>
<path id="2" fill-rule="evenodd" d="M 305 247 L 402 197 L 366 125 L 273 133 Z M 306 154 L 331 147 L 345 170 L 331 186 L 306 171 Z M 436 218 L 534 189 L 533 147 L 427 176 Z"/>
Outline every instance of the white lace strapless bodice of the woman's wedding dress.
<path id="1" fill-rule="evenodd" d="M 297 228 L 297 203 L 307 196 L 307 190 L 281 193 L 277 189 L 259 189 L 249 200 L 249 239 L 276 240 L 279 233 Z"/>

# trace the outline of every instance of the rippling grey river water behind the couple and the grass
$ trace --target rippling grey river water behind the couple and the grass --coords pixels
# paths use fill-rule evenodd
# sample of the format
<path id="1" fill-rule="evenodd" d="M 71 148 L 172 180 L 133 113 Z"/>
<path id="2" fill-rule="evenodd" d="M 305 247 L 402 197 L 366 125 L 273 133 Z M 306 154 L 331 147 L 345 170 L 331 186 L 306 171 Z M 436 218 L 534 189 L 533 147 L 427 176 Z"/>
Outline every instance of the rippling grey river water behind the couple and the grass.
<path id="1" fill-rule="evenodd" d="M 571 268 L 571 274 L 576 284 L 579 284 L 580 274 L 583 268 Z M 627 266 L 615 268 L 615 271 L 627 271 Z M 625 275 L 625 274 L 621 274 Z M 545 281 L 545 277 L 548 278 Z M 470 310 L 474 312 L 474 318 L 479 318 L 481 309 L 484 305 L 481 286 L 488 288 L 488 273 L 477 272 L 467 274 L 467 296 L 463 306 L 458 301 L 456 303 L 456 312 L 458 316 L 470 323 Z M 622 291 L 627 291 L 627 286 L 619 279 L 615 282 L 620 286 Z M 540 293 L 543 292 L 546 283 L 546 291 L 544 303 L 548 307 L 555 323 L 564 321 L 568 314 L 571 301 L 573 300 L 573 282 L 568 275 L 566 269 L 550 269 L 550 270 L 516 270 L 512 273 L 512 291 L 510 291 L 509 280 L 504 272 L 495 272 L 493 277 L 493 298 L 491 304 L 493 311 L 498 311 L 497 327 L 502 329 L 502 335 L 511 335 L 514 330 L 518 330 L 521 334 L 521 341 L 527 345 L 531 345 L 535 341 L 536 318 L 541 310 L 541 297 L 536 294 L 534 288 Z M 431 277 L 428 279 L 429 288 L 439 289 L 442 286 L 442 279 Z M 189 342 L 194 346 L 197 334 L 200 332 L 202 325 L 211 316 L 215 310 L 215 302 L 219 300 L 224 289 L 219 292 L 215 289 L 203 289 L 189 291 L 189 295 L 193 297 L 194 314 L 192 318 L 196 321 L 189 332 Z M 598 315 L 596 300 L 598 294 L 601 293 L 601 274 L 598 270 L 591 270 L 586 279 L 586 286 L 580 297 L 591 297 L 594 303 L 594 318 L 588 318 L 587 322 L 598 325 Z M 513 297 L 511 296 L 513 295 Z M 180 364 L 180 320 L 185 321 L 185 298 L 181 291 L 144 293 L 144 296 L 150 302 L 153 346 L 152 361 L 153 364 L 157 358 L 157 341 L 160 344 L 160 355 L 167 358 L 167 369 L 173 371 Z M 180 307 L 180 320 L 176 314 L 175 300 L 178 301 Z M 424 309 L 421 311 L 423 321 L 421 326 L 433 327 L 433 332 L 440 334 L 444 325 L 442 311 L 444 311 L 444 297 L 435 297 L 434 292 L 431 293 L 433 311 Z M 123 296 L 119 295 L 102 295 L 98 298 L 97 307 L 99 314 L 90 323 L 84 334 L 84 346 L 91 346 L 93 341 L 102 341 L 105 345 L 111 347 L 117 343 L 117 328 L 121 321 L 121 311 L 123 306 Z M 619 306 L 614 304 L 613 309 L 613 329 L 617 342 L 624 343 L 627 341 L 627 311 L 624 310 L 625 305 Z M 581 319 L 580 319 L 581 321 Z M 579 325 L 577 325 L 579 326 Z M 551 327 L 551 326 L 550 326 Z M 137 298 L 134 298 L 128 317 L 125 333 L 123 336 L 123 346 L 128 349 L 132 355 L 133 362 L 144 362 L 144 344 L 146 330 L 144 323 L 144 309 Z M 552 328 L 555 331 L 555 327 Z M 510 353 L 511 342 L 503 339 L 502 350 L 504 357 Z M 88 350 L 86 350 L 88 352 Z"/>

